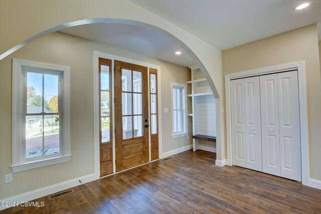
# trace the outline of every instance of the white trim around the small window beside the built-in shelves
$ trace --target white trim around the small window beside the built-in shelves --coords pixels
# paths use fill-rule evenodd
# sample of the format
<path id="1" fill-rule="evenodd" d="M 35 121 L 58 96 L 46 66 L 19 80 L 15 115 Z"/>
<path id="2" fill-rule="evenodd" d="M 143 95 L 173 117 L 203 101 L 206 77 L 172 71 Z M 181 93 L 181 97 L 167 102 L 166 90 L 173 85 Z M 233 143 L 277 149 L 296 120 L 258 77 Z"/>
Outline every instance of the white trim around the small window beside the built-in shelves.
<path id="1" fill-rule="evenodd" d="M 173 105 L 173 88 L 177 86 L 183 89 L 182 93 L 182 99 L 183 99 L 183 130 L 181 132 L 173 132 L 173 127 L 174 127 L 174 105 Z M 171 82 L 171 102 L 172 102 L 172 138 L 179 138 L 179 137 L 184 137 L 187 136 L 188 133 L 188 127 L 187 127 L 187 87 L 186 84 L 180 84 L 180 83 L 173 83 Z"/>

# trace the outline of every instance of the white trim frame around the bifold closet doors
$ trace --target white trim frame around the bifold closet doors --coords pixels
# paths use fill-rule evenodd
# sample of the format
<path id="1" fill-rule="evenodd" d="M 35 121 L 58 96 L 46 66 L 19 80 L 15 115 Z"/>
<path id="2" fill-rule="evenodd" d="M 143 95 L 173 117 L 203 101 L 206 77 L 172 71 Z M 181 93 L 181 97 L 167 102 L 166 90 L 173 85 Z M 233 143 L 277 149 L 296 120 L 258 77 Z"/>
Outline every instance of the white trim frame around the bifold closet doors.
<path id="1" fill-rule="evenodd" d="M 298 61 L 277 66 L 259 68 L 225 75 L 225 106 L 226 106 L 226 146 L 227 165 L 232 165 L 232 123 L 231 123 L 231 91 L 230 80 L 252 77 L 256 75 L 273 74 L 283 71 L 297 70 L 299 86 L 299 110 L 300 110 L 300 140 L 301 140 L 301 174 L 302 184 L 309 186 L 309 139 L 307 121 L 307 99 L 305 61 Z"/>

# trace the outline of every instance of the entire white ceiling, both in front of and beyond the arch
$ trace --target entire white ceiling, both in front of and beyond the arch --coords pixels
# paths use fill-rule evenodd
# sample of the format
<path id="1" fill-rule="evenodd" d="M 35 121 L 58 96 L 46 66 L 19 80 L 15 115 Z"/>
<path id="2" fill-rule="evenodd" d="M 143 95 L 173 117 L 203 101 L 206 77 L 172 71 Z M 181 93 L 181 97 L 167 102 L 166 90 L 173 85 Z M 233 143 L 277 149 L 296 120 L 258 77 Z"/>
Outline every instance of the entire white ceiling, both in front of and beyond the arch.
<path id="1" fill-rule="evenodd" d="M 309 0 L 302 11 L 300 0 L 129 0 L 226 50 L 321 21 L 321 0 Z M 318 25 L 321 40 L 321 25 Z M 182 66 L 192 58 L 166 36 L 124 24 L 89 24 L 61 32 Z M 93 33 L 94 32 L 94 33 Z M 181 56 L 175 56 L 176 51 Z"/>

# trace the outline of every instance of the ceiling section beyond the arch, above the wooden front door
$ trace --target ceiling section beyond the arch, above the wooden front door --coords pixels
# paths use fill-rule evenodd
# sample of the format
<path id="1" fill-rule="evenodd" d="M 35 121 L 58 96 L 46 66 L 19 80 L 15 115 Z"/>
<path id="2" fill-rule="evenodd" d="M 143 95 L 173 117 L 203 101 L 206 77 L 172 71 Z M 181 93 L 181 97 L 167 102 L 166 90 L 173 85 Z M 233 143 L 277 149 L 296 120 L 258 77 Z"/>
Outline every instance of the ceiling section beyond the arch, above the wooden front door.
<path id="1" fill-rule="evenodd" d="M 88 24 L 66 28 L 60 32 L 181 66 L 195 64 L 194 60 L 172 40 L 142 27 L 125 24 Z M 176 51 L 181 51 L 182 55 L 176 56 Z"/>

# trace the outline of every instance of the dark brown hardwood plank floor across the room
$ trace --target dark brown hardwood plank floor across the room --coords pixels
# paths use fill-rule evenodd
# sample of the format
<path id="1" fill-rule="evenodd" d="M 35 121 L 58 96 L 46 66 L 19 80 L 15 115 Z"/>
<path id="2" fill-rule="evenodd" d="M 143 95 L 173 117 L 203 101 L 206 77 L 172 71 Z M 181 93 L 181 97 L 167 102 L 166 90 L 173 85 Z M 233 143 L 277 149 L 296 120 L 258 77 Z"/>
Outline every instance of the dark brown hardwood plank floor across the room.
<path id="1" fill-rule="evenodd" d="M 321 190 L 240 167 L 217 167 L 215 153 L 182 152 L 169 160 L 74 187 L 45 206 L 4 213 L 321 213 Z"/>

